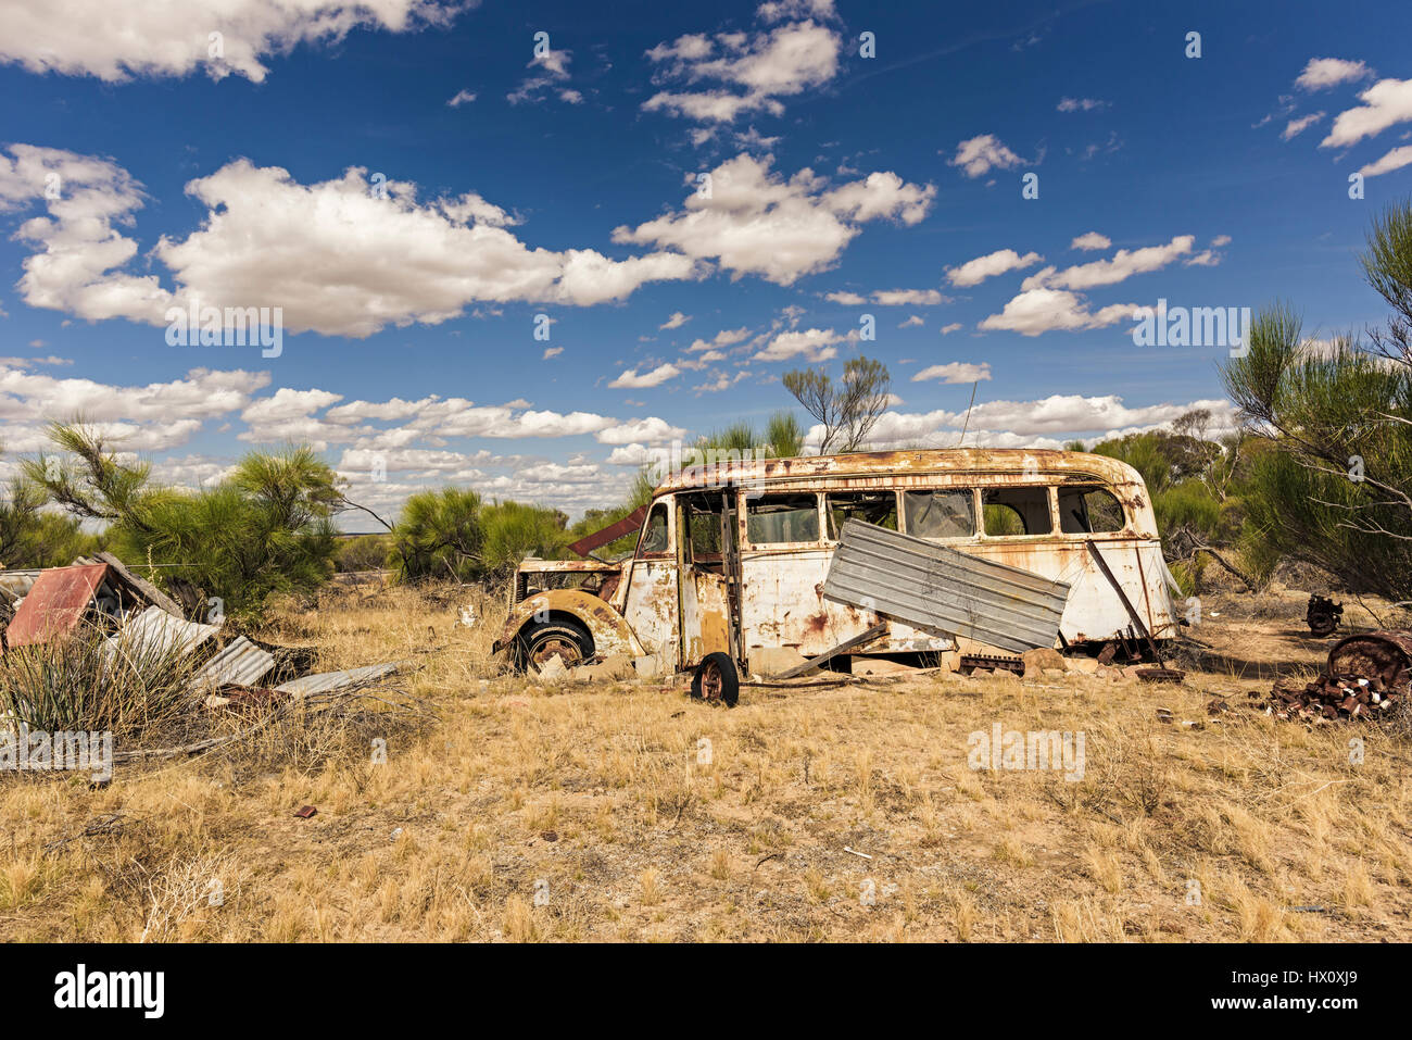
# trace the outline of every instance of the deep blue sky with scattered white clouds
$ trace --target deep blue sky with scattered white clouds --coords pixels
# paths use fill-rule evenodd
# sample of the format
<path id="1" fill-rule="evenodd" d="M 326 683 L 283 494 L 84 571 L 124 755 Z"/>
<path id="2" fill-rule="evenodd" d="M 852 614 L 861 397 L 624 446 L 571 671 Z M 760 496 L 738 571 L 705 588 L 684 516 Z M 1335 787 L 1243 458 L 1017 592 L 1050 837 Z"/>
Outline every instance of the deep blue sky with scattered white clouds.
<path id="1" fill-rule="evenodd" d="M 973 383 L 967 444 L 1219 425 L 1224 349 L 1132 307 L 1361 329 L 1412 188 L 1402 3 L 174 7 L 0 11 L 0 469 L 82 414 L 175 483 L 309 441 L 387 512 L 578 513 L 857 353 L 878 444 L 956 444 Z M 168 343 L 193 298 L 282 352 Z"/>

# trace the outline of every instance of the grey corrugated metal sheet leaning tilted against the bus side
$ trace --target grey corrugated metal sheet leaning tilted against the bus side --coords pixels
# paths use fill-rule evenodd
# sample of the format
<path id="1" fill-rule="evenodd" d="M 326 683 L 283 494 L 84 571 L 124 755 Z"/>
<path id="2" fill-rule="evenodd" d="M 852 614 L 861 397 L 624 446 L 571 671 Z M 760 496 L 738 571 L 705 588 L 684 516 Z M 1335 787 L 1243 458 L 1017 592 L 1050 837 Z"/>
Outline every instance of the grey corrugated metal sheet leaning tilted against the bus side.
<path id="1" fill-rule="evenodd" d="M 1069 585 L 849 520 L 823 595 L 1021 653 L 1055 644 Z"/>

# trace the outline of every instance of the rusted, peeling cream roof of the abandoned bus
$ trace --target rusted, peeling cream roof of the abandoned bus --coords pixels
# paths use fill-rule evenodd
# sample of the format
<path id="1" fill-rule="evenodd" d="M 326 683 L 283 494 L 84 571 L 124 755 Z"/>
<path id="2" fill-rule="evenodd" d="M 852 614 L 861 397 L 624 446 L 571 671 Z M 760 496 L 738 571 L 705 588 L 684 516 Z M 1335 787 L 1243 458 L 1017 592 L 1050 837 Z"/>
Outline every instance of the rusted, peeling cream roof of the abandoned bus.
<path id="1" fill-rule="evenodd" d="M 853 455 L 801 455 L 792 459 L 741 459 L 688 466 L 671 473 L 657 492 L 693 490 L 703 485 L 743 485 L 842 478 L 907 478 L 936 473 L 1014 475 L 1034 461 L 1041 476 L 1067 480 L 1097 479 L 1111 485 L 1138 485 L 1138 472 L 1107 455 L 1051 448 L 928 448 L 918 451 L 867 451 Z"/>

